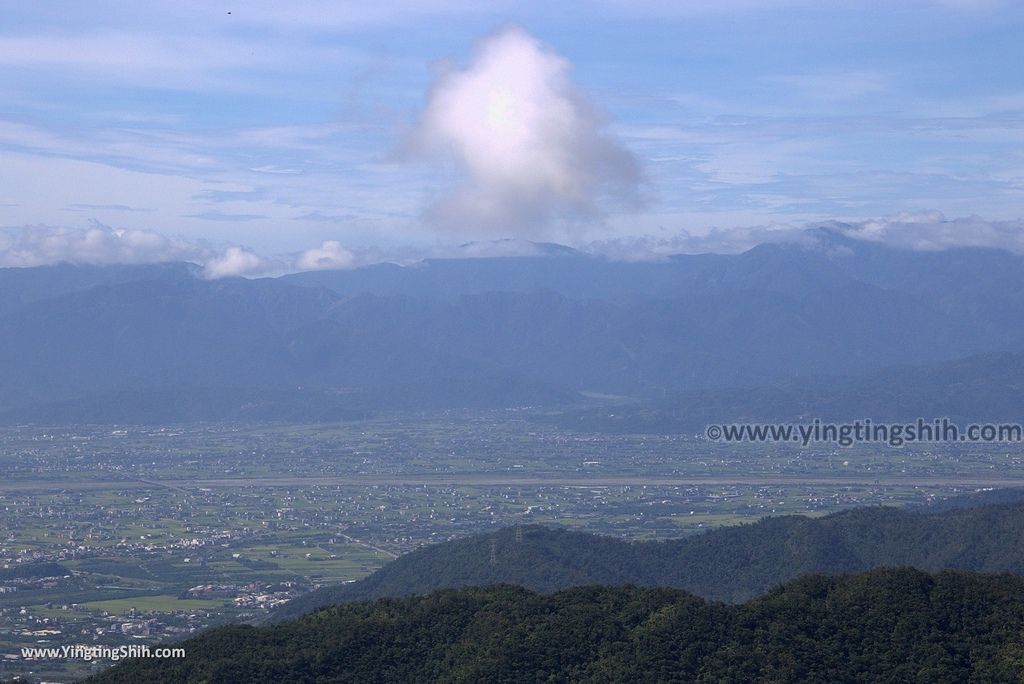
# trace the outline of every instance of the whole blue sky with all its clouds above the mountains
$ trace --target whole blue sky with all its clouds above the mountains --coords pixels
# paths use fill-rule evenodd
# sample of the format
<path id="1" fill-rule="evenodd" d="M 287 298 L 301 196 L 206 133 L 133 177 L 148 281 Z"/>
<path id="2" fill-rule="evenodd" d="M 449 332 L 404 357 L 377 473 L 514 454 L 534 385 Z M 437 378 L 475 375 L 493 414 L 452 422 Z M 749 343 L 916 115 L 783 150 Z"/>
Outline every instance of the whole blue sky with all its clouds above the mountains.
<path id="1" fill-rule="evenodd" d="M 219 276 L 527 241 L 644 258 L 822 222 L 1024 252 L 1024 3 L 0 0 L 0 265 Z"/>

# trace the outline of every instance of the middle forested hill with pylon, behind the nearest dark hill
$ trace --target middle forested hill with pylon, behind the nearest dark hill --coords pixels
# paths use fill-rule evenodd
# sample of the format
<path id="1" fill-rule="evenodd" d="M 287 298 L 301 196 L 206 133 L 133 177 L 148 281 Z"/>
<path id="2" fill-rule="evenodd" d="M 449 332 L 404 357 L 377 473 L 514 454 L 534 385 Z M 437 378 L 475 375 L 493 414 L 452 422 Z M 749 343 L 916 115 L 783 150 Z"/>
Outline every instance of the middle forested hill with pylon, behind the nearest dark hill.
<path id="1" fill-rule="evenodd" d="M 669 542 L 631 543 L 528 525 L 518 536 L 506 528 L 424 547 L 365 580 L 294 599 L 269 619 L 334 603 L 498 583 L 542 592 L 589 584 L 676 587 L 710 599 L 743 601 L 803 574 L 885 565 L 1024 574 L 1021 530 L 1024 503 L 779 516 Z"/>

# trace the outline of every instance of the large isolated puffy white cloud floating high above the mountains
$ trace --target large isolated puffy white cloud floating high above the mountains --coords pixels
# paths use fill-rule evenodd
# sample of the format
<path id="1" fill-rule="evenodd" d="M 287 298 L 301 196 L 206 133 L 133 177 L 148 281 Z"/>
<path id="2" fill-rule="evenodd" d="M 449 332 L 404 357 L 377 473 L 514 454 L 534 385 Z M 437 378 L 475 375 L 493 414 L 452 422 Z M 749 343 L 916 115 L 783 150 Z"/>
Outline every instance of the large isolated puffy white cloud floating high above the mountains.
<path id="1" fill-rule="evenodd" d="M 639 202 L 634 156 L 569 79 L 570 65 L 517 27 L 434 83 L 417 152 L 453 158 L 464 180 L 427 210 L 460 234 L 541 237 L 553 223 L 593 221 L 608 202 Z"/>

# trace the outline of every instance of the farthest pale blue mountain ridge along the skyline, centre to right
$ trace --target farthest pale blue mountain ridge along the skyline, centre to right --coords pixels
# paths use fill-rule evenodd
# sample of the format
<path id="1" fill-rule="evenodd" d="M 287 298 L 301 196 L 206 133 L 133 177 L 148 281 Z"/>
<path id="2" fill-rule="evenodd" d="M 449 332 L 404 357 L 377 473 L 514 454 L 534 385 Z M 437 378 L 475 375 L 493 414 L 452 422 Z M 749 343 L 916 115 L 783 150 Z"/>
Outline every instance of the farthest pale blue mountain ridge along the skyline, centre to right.
<path id="1" fill-rule="evenodd" d="M 550 246 L 549 246 L 550 247 Z M 660 261 L 612 261 L 562 248 L 531 256 L 426 259 L 348 270 L 285 275 L 295 285 L 343 296 L 378 294 L 455 300 L 488 292 L 556 292 L 570 299 L 673 299 L 726 292 L 801 294 L 859 283 L 881 290 L 1017 301 L 1024 259 L 988 249 L 910 251 L 852 240 L 835 228 L 798 243 L 765 244 L 742 254 L 683 254 Z"/>

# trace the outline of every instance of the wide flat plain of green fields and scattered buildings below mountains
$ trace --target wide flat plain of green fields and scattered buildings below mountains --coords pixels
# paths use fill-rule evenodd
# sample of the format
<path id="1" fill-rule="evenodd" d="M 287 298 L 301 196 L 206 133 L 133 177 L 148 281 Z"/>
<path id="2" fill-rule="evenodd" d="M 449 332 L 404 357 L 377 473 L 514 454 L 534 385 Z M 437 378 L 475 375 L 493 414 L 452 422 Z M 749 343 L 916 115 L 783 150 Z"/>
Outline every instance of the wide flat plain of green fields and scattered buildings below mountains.
<path id="1" fill-rule="evenodd" d="M 920 505 L 1024 480 L 1024 454 L 719 444 L 483 413 L 9 428 L 0 470 L 0 654 L 16 656 L 253 618 L 423 544 L 497 526 L 667 539 L 765 515 Z M 37 679 L 91 667 L 5 662 Z"/>

